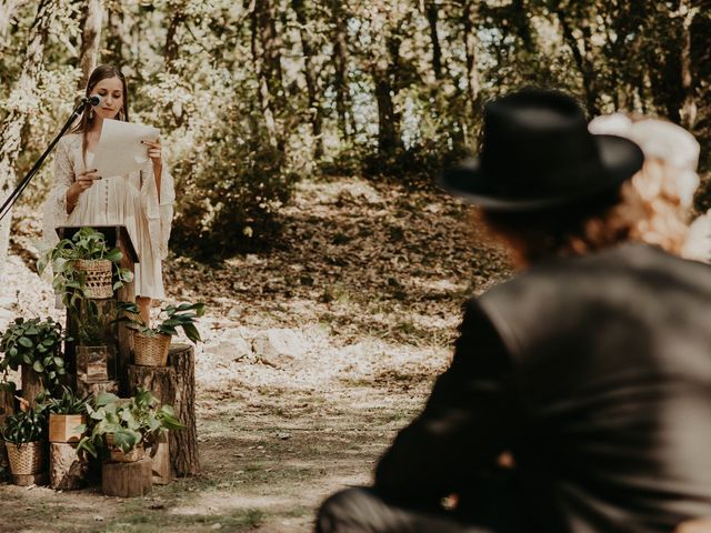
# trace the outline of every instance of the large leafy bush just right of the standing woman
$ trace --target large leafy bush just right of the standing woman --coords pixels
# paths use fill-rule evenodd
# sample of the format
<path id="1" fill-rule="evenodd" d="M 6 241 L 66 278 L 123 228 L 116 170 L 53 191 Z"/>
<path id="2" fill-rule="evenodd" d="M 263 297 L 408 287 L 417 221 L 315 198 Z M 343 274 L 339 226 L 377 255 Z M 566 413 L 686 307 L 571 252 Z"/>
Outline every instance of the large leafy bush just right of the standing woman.
<path id="1" fill-rule="evenodd" d="M 277 214 L 293 192 L 297 174 L 284 152 L 262 138 L 240 135 L 252 118 L 228 108 L 173 172 L 178 198 L 171 247 L 198 257 L 264 248 L 278 230 Z M 256 119 L 254 119 L 256 120 Z"/>

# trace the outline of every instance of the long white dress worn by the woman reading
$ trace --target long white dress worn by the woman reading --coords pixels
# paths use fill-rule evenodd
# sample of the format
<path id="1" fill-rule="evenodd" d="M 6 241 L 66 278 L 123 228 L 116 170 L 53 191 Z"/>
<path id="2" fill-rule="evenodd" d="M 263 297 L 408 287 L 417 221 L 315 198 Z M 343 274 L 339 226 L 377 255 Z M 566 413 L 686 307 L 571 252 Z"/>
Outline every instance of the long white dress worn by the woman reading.
<path id="1" fill-rule="evenodd" d="M 91 168 L 93 154 L 82 155 L 82 135 L 72 133 L 57 143 L 54 181 L 44 203 L 43 242 L 58 242 L 56 228 L 60 225 L 124 225 L 139 263 L 136 264 L 136 294 L 163 299 L 162 259 L 168 254 L 173 202 L 173 179 L 166 169 L 161 175 L 160 201 L 152 162 L 127 175 L 102 177 L 79 195 L 71 214 L 67 214 L 67 190 L 77 174 Z"/>

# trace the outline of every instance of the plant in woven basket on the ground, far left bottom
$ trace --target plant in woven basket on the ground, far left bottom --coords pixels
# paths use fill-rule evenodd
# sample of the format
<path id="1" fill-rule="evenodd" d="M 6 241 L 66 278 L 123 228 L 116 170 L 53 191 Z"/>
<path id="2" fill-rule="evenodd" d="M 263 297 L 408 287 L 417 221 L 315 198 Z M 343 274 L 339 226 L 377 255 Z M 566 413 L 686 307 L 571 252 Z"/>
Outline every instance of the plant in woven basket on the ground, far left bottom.
<path id="1" fill-rule="evenodd" d="M 14 475 L 31 475 L 43 472 L 43 439 L 47 432 L 47 406 L 30 408 L 26 402 L 22 410 L 8 416 L 2 428 L 10 460 L 10 471 Z"/>

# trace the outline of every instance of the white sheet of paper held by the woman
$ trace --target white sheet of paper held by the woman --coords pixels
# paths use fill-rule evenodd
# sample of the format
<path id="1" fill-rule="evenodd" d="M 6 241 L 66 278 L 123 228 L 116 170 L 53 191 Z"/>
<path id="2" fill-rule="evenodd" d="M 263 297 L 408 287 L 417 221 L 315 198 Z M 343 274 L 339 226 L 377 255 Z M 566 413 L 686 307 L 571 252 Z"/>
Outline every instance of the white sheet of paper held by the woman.
<path id="1" fill-rule="evenodd" d="M 91 167 L 102 178 L 140 170 L 149 160 L 148 147 L 141 141 L 154 141 L 159 134 L 152 125 L 104 119 Z"/>

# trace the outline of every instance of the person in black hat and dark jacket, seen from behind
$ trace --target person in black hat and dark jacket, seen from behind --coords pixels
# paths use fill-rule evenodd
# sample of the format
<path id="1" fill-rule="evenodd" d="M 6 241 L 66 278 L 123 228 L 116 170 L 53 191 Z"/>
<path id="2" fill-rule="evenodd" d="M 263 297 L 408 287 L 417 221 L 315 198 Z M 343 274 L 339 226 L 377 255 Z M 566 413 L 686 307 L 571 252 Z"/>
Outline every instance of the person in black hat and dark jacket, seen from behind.
<path id="1" fill-rule="evenodd" d="M 634 241 L 642 163 L 564 94 L 487 105 L 480 157 L 441 185 L 522 270 L 467 303 L 423 412 L 318 532 L 651 533 L 711 515 L 711 268 Z"/>

